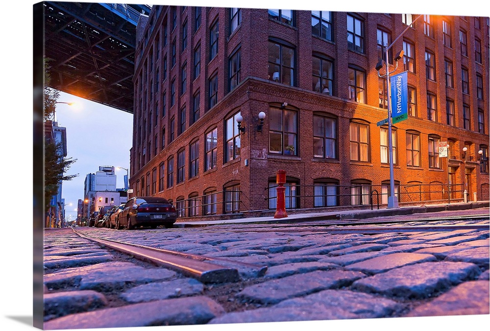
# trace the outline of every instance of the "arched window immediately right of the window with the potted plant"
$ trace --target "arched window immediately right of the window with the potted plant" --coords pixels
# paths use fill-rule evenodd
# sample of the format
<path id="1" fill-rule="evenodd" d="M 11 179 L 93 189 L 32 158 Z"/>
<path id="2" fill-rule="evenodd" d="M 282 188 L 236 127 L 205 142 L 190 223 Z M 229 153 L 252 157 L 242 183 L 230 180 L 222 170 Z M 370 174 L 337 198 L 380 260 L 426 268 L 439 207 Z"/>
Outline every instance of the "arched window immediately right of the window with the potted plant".
<path id="1" fill-rule="evenodd" d="M 337 159 L 337 118 L 313 116 L 313 156 Z"/>

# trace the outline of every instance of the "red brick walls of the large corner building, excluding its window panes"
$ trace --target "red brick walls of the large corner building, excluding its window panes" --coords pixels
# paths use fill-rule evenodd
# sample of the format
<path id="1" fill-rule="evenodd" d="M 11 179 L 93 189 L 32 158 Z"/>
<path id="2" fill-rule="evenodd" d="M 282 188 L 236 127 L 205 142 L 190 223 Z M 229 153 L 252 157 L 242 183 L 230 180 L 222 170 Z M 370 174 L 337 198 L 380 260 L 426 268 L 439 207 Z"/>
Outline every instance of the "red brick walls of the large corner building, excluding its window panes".
<path id="1" fill-rule="evenodd" d="M 173 17 L 176 27 L 173 29 Z M 293 25 L 279 22 L 270 17 L 266 9 L 240 10 L 241 22 L 231 32 L 231 11 L 229 8 L 201 8 L 200 25 L 196 29 L 196 7 L 153 6 L 149 17 L 138 26 L 136 50 L 136 70 L 134 75 L 135 105 L 133 147 L 131 148 L 130 188 L 138 195 L 147 194 L 147 179 L 150 181 L 148 193 L 164 196 L 174 203 L 182 199 L 195 197 L 200 205 L 193 212 L 189 201 L 185 201 L 182 216 L 215 214 L 205 206 L 217 203 L 216 214 L 226 210 L 237 212 L 234 200 L 230 197 L 239 188 L 239 215 L 267 213 L 270 210 L 269 183 L 275 182 L 275 172 L 284 169 L 288 182 L 295 183 L 293 194 L 299 198 L 290 201 L 289 207 L 309 209 L 322 203 L 320 195 L 328 195 L 325 206 L 355 206 L 369 203 L 368 194 L 372 190 L 385 193 L 390 180 L 389 165 L 382 163 L 380 151 L 380 128 L 376 122 L 387 118 L 386 109 L 379 108 L 378 73 L 374 69 L 378 62 L 377 30 L 382 29 L 390 34 L 392 40 L 400 35 L 406 24 L 402 23 L 401 14 L 374 13 L 331 13 L 332 40 L 312 35 L 312 13 L 294 11 Z M 362 35 L 364 50 L 348 50 L 347 35 L 348 15 L 364 24 Z M 417 15 L 413 15 L 415 19 Z M 394 153 L 394 180 L 399 185 L 400 205 L 420 201 L 447 201 L 448 180 L 454 185 L 451 195 L 453 201 L 463 199 L 463 190 L 477 193 L 478 200 L 489 199 L 489 34 L 488 19 L 477 18 L 476 28 L 473 17 L 440 17 L 431 16 L 434 38 L 424 34 L 424 20 L 415 22 L 415 28 L 409 28 L 402 38 L 392 47 L 393 56 L 403 48 L 403 41 L 415 45 L 415 73 L 408 73 L 408 84 L 416 89 L 417 116 L 393 124 L 396 132 Z M 445 46 L 442 40 L 442 20 L 451 27 L 451 47 Z M 142 23 L 144 22 L 144 24 Z M 187 22 L 187 23 L 186 23 Z M 211 28 L 218 22 L 217 55 L 211 59 Z M 183 26 L 187 27 L 187 47 L 183 49 Z M 167 42 L 165 43 L 165 30 Z M 467 56 L 461 55 L 459 31 L 466 31 Z M 475 40 L 481 43 L 482 63 L 475 61 Z M 172 66 L 172 44 L 175 42 L 176 63 Z M 273 81 L 270 77 L 270 49 L 281 45 L 281 56 L 286 59 L 288 51 L 293 49 L 294 61 L 282 63 L 281 79 L 287 77 L 288 66 L 293 63 L 293 86 Z M 200 46 L 200 71 L 194 76 L 195 49 Z M 240 50 L 239 84 L 230 91 L 231 66 L 229 59 Z M 435 54 L 435 79 L 426 78 L 425 53 Z M 331 95 L 314 91 L 312 76 L 313 57 L 333 63 Z M 164 76 L 164 59 L 167 60 L 167 73 Z M 445 61 L 453 67 L 454 87 L 446 87 Z M 324 62 L 326 63 L 326 62 Z M 182 68 L 186 64 L 186 87 L 182 89 Z M 468 70 L 468 93 L 463 93 L 462 71 Z M 349 68 L 364 72 L 364 93 L 366 103 L 350 100 Z M 390 65 L 390 70 L 395 66 Z M 403 60 L 399 61 L 396 72 L 404 71 Z M 381 70 L 384 73 L 384 69 Z M 217 103 L 210 107 L 210 78 L 217 75 Z M 478 97 L 477 74 L 483 81 L 483 95 Z M 172 81 L 175 84 L 175 102 L 171 105 Z M 479 83 L 478 83 L 479 84 Z M 194 96 L 199 93 L 199 118 L 193 122 Z M 428 119 L 427 94 L 436 96 L 437 121 Z M 164 94 L 165 99 L 164 99 Z M 446 99 L 454 102 L 454 125 L 448 125 L 446 119 Z M 164 105 L 165 104 L 165 105 Z M 286 105 L 287 104 L 287 105 Z M 469 130 L 464 129 L 464 104 L 470 110 Z M 164 108 L 165 106 L 165 108 Z M 181 112 L 185 108 L 185 130 L 181 130 Z M 164 110 L 165 109 L 165 110 Z M 478 109 L 483 112 L 483 133 L 479 132 Z M 163 114 L 165 111 L 165 114 Z M 155 112 L 157 114 L 155 115 Z M 231 161 L 225 160 L 225 145 L 230 135 L 226 120 L 238 112 L 243 117 L 242 127 L 245 132 L 240 135 L 240 155 Z M 264 112 L 266 118 L 262 132 L 257 131 L 258 114 Z M 271 114 L 275 114 L 271 116 Z M 277 129 L 277 114 L 283 114 L 285 125 Z M 289 117 L 288 117 L 289 116 Z M 273 117 L 273 118 L 272 118 Z M 314 121 L 315 117 L 315 121 Z M 286 121 L 294 118 L 294 121 Z M 318 120 L 334 122 L 334 157 L 319 157 L 314 154 L 314 127 Z M 171 142 L 171 122 L 174 121 L 174 137 Z M 352 124 L 354 123 L 354 124 Z M 467 123 L 467 121 L 466 121 Z M 235 122 L 235 126 L 236 126 Z M 291 126 L 295 126 L 294 128 Z M 368 142 L 356 142 L 350 131 L 360 126 L 359 132 L 368 133 Z M 386 126 L 384 126 L 386 127 Z M 384 128 L 383 127 L 383 128 Z M 163 130 L 165 129 L 165 146 L 162 148 Z M 212 169 L 205 171 L 206 134 L 217 130 L 215 149 L 216 163 Z M 367 130 L 366 130 L 367 129 Z M 236 135 L 236 128 L 234 129 Z M 277 131 L 279 130 L 279 131 Z M 181 132 L 182 131 L 182 132 Z M 420 163 L 410 166 L 407 160 L 407 135 L 413 134 L 419 139 L 418 154 Z M 228 134 L 228 135 L 227 135 Z M 295 155 L 288 155 L 284 142 L 277 151 L 275 138 L 282 140 L 295 136 Z M 288 138 L 289 137 L 289 138 Z M 363 136 L 364 137 L 364 136 Z M 410 136 L 412 137 L 412 136 Z M 236 137 L 235 137 L 236 138 Z M 324 137 L 325 138 L 325 137 Z M 293 138 L 291 138 L 293 139 Z M 354 140 L 354 142 L 351 142 Z M 190 174 L 190 144 L 199 142 L 198 172 L 193 178 Z M 317 137 L 316 141 L 319 141 Z M 332 140 L 325 139 L 323 142 Z M 429 160 L 429 143 L 438 141 L 451 142 L 450 158 Z M 156 143 L 156 146 L 155 146 Z M 270 145 L 274 145 L 270 147 Z M 351 146 L 363 145 L 363 160 L 355 161 L 351 156 Z M 467 146 L 466 158 L 463 159 L 462 148 Z M 272 151 L 271 151 L 272 148 Z M 326 148 L 326 145 L 325 145 Z M 354 148 L 354 147 L 352 147 Z M 355 147 L 357 148 L 357 147 Z M 415 148 L 417 149 L 417 148 Z M 480 167 L 478 151 L 483 149 L 486 162 Z M 184 180 L 176 183 L 178 175 L 178 153 L 185 153 Z M 368 151 L 365 155 L 364 151 Z M 412 151 L 411 151 L 412 153 Z M 413 154 L 415 153 L 415 154 Z M 416 155 L 413 152 L 410 155 Z M 173 184 L 168 186 L 169 159 L 173 157 Z M 366 158 L 366 159 L 364 159 Z M 437 158 L 436 158 L 437 159 Z M 449 167 L 448 167 L 449 160 Z M 436 162 L 430 166 L 429 162 Z M 163 190 L 160 190 L 160 165 L 165 166 Z M 450 173 L 448 174 L 448 168 Z M 483 171 L 481 171 L 483 170 Z M 156 174 L 156 185 L 153 185 L 153 173 Z M 141 187 L 145 182 L 144 188 Z M 336 192 L 319 193 L 317 186 L 327 185 Z M 327 184 L 325 184 L 327 183 Z M 363 185 L 364 184 L 364 185 Z M 429 185 L 432 184 L 432 185 Z M 235 186 L 239 185 L 239 187 Z M 228 194 L 228 204 L 223 203 L 223 189 L 233 186 Z M 332 188 L 334 186 L 335 188 Z M 138 189 L 139 187 L 139 189 Z M 359 201 L 351 198 L 359 187 L 362 194 Z M 143 190 L 144 189 L 144 190 Z M 202 196 L 209 192 L 216 194 L 211 200 Z M 409 194 L 410 192 L 410 194 Z M 314 198 L 317 196 L 317 199 Z M 208 195 L 208 198 L 211 196 Z M 367 200 L 366 200 L 367 199 Z M 383 200 L 384 201 L 384 200 Z M 380 203 L 382 202 L 380 198 Z M 376 204 L 376 197 L 373 198 Z M 181 202 L 180 206 L 183 202 Z M 365 208 L 367 206 L 364 206 Z M 334 207 L 332 207 L 334 208 Z"/>

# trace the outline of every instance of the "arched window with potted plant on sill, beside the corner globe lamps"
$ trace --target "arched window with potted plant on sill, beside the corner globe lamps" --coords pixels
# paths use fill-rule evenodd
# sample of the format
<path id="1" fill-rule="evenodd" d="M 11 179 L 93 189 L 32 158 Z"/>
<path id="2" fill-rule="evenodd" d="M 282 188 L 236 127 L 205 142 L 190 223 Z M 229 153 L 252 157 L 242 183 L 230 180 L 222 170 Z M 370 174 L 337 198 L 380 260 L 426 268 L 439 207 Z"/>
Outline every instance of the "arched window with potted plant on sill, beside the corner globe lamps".
<path id="1" fill-rule="evenodd" d="M 269 110 L 269 152 L 297 155 L 297 112 L 290 109 Z"/>

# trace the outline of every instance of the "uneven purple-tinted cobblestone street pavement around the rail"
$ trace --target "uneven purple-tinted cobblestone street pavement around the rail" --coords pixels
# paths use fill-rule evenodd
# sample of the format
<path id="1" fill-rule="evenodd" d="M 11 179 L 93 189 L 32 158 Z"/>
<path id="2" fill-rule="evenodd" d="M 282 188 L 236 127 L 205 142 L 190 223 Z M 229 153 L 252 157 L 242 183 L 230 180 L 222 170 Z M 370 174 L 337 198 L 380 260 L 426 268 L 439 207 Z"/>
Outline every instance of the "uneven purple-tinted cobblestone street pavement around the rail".
<path id="1" fill-rule="evenodd" d="M 426 223 L 369 235 L 250 224 L 78 228 L 91 236 L 268 266 L 261 277 L 239 270 L 242 281 L 234 284 L 201 284 L 100 247 L 71 229 L 47 230 L 44 328 L 489 314 L 489 229 L 408 231 L 417 224 Z"/>

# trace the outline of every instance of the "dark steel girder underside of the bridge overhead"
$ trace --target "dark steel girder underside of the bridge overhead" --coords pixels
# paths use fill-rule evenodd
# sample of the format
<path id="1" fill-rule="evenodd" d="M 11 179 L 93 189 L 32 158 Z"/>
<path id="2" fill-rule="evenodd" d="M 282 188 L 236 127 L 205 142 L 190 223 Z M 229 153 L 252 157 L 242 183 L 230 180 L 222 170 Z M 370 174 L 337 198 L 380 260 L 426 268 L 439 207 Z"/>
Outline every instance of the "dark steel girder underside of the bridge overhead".
<path id="1" fill-rule="evenodd" d="M 49 87 L 133 113 L 134 22 L 99 3 L 44 5 Z"/>

